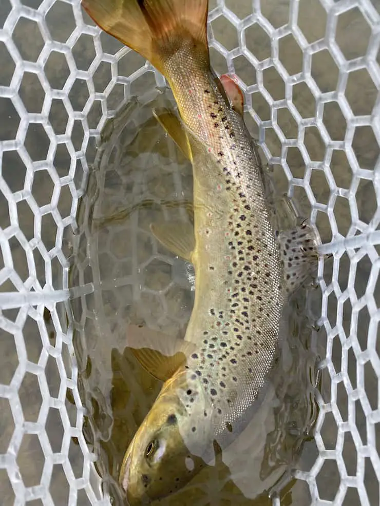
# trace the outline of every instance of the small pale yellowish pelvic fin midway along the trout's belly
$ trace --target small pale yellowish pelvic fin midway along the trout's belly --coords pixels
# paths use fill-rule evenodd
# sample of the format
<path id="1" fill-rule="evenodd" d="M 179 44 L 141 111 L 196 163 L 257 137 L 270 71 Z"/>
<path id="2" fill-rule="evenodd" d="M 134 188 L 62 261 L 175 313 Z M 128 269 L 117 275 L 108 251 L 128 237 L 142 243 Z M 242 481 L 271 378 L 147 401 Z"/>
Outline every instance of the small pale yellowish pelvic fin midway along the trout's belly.
<path id="1" fill-rule="evenodd" d="M 194 228 L 189 222 L 178 220 L 152 223 L 150 230 L 169 251 L 191 261 L 195 248 Z"/>

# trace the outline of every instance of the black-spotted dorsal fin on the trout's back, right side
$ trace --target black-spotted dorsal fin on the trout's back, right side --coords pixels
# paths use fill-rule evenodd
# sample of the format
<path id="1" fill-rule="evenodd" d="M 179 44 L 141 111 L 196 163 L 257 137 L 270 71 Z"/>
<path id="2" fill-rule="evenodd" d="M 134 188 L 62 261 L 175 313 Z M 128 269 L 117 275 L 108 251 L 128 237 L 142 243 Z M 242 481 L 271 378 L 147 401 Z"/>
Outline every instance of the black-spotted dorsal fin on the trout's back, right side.
<path id="1" fill-rule="evenodd" d="M 284 286 L 290 294 L 298 290 L 315 273 L 319 258 L 320 238 L 305 220 L 277 237 L 283 265 Z"/>

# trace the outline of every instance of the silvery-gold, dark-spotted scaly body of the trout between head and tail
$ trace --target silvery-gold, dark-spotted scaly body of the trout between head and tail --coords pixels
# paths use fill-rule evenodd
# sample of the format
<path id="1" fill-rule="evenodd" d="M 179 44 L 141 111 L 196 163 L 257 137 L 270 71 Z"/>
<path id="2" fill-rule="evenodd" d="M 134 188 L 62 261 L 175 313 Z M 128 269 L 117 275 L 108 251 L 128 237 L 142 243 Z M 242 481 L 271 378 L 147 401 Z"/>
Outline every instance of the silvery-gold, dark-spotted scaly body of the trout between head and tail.
<path id="1" fill-rule="evenodd" d="M 185 339 L 201 341 L 188 365 L 223 432 L 251 406 L 273 365 L 283 303 L 279 248 L 258 156 L 215 75 L 192 47 L 181 47 L 165 69 L 181 117 L 218 162 L 213 173 L 193 165 L 196 286 Z"/>

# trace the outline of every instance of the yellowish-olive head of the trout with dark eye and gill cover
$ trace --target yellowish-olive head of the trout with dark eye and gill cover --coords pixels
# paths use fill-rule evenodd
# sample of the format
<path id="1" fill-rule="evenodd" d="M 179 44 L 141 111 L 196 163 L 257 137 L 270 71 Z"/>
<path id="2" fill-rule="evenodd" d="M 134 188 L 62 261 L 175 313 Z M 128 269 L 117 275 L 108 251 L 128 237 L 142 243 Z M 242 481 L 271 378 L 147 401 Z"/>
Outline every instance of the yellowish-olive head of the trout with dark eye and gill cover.
<path id="1" fill-rule="evenodd" d="M 131 505 L 174 494 L 213 459 L 212 413 L 191 371 L 164 384 L 124 456 L 120 484 Z"/>

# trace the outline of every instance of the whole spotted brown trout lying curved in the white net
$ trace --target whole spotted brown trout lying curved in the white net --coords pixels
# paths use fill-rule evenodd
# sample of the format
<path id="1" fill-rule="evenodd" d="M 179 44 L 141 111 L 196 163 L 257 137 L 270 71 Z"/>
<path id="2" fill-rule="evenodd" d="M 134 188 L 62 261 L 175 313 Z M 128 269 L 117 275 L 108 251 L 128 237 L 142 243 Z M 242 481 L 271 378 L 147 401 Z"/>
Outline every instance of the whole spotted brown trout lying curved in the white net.
<path id="1" fill-rule="evenodd" d="M 158 122 L 191 160 L 194 223 L 151 224 L 192 262 L 195 299 L 185 335 L 129 325 L 127 343 L 163 381 L 120 470 L 130 504 L 181 490 L 243 431 L 278 361 L 286 301 L 315 269 L 317 232 L 276 231 L 257 147 L 236 80 L 212 70 L 207 0 L 82 0 L 105 32 L 160 71 L 178 114 Z"/>

